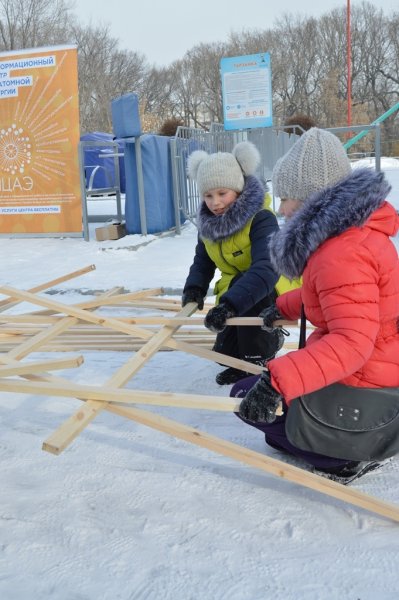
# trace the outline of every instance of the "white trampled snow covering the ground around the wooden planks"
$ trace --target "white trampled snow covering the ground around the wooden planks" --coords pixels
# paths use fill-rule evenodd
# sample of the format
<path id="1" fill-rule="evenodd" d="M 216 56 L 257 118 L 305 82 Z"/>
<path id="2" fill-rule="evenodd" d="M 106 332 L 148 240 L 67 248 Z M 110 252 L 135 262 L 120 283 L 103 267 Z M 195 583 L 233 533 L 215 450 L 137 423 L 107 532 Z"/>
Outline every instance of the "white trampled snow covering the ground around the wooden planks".
<path id="1" fill-rule="evenodd" d="M 180 236 L 112 242 L 96 242 L 93 231 L 90 242 L 1 238 L 0 280 L 29 289 L 95 264 L 41 295 L 69 304 L 114 286 L 164 286 L 179 296 L 195 239 L 189 224 Z M 24 303 L 13 311 L 35 308 Z M 101 385 L 128 359 L 126 352 L 83 354 L 78 369 L 56 375 Z M 214 382 L 220 368 L 158 352 L 127 387 L 226 396 L 230 388 Z M 69 398 L 0 395 L 1 599 L 398 597 L 397 523 L 106 411 L 59 456 L 42 451 L 80 406 Z M 233 414 L 148 410 L 287 460 Z M 399 504 L 399 460 L 352 487 Z"/>

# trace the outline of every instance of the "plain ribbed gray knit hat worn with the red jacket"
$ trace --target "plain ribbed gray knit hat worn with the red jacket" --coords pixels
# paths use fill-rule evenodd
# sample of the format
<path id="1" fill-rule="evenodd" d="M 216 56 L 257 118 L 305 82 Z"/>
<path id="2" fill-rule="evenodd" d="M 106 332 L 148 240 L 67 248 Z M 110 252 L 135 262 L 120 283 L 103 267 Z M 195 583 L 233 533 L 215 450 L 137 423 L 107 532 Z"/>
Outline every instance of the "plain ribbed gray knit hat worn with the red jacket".
<path id="1" fill-rule="evenodd" d="M 305 200 L 351 173 L 345 149 L 336 135 L 312 127 L 280 158 L 273 169 L 273 194 Z"/>

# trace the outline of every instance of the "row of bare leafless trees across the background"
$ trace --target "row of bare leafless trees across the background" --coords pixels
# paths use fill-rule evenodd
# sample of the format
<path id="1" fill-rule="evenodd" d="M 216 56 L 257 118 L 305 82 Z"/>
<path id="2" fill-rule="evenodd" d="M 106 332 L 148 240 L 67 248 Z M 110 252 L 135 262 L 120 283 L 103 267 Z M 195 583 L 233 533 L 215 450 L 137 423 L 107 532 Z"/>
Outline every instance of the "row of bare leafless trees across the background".
<path id="1" fill-rule="evenodd" d="M 168 119 L 208 128 L 222 122 L 220 59 L 269 52 L 276 124 L 303 113 L 319 126 L 346 123 L 346 10 L 319 19 L 285 14 L 268 29 L 231 33 L 226 42 L 198 44 L 169 67 L 120 49 L 108 26 L 84 27 L 68 0 L 0 0 L 0 50 L 75 43 L 79 58 L 82 131 L 111 131 L 111 101 L 136 92 L 144 127 Z M 370 2 L 352 7 L 352 123 L 370 123 L 399 100 L 399 13 Z M 393 138 L 394 119 L 384 123 Z"/>

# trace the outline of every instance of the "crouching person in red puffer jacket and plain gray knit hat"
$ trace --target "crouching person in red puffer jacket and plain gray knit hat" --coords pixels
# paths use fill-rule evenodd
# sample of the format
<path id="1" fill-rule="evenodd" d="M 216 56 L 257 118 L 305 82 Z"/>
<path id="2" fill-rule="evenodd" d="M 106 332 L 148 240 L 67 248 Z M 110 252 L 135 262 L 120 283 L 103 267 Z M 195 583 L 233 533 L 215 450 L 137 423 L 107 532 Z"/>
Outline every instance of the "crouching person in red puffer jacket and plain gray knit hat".
<path id="1" fill-rule="evenodd" d="M 295 210 L 270 242 L 271 260 L 287 277 L 302 276 L 303 285 L 277 299 L 265 326 L 298 319 L 303 306 L 315 329 L 304 348 L 269 361 L 268 371 L 236 384 L 232 395 L 243 397 L 240 417 L 264 431 L 267 443 L 344 482 L 377 463 L 335 458 L 338 447 L 329 456 L 295 447 L 276 410 L 283 402 L 287 413 L 293 399 L 332 384 L 343 394 L 346 386 L 399 387 L 399 261 L 390 240 L 399 217 L 385 200 L 384 175 L 352 172 L 339 139 L 317 128 L 277 162 L 273 190 L 283 212 Z"/>

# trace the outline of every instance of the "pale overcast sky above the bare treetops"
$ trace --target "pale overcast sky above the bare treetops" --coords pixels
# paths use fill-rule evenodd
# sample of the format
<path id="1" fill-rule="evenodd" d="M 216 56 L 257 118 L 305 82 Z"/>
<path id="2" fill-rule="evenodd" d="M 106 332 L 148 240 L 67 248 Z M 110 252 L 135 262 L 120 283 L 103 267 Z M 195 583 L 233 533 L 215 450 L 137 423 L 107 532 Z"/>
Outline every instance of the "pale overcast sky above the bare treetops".
<path id="1" fill-rule="evenodd" d="M 352 0 L 351 6 L 360 0 Z M 396 0 L 373 0 L 389 15 Z M 88 25 L 109 24 L 120 48 L 144 54 L 150 64 L 168 66 L 183 58 L 193 46 L 227 41 L 230 32 L 267 29 L 284 13 L 319 17 L 333 8 L 347 7 L 346 0 L 79 0 L 74 13 Z M 260 49 L 265 51 L 265 49 Z"/>

